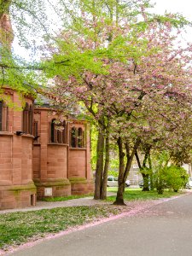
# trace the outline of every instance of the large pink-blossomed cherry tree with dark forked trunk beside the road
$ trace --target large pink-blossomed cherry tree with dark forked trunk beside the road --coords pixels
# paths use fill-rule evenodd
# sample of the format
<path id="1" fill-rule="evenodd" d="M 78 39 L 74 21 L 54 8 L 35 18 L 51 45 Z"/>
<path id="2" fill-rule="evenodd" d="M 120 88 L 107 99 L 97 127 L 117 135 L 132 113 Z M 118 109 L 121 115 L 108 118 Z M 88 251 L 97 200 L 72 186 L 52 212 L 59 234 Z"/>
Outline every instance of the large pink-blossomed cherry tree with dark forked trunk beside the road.
<path id="1" fill-rule="evenodd" d="M 191 71 L 187 65 L 191 45 L 175 47 L 177 35 L 173 34 L 174 29 L 180 32 L 186 20 L 149 15 L 148 1 L 134 2 L 131 9 L 127 5 L 129 11 L 118 1 L 76 3 L 78 14 L 68 9 L 72 22 L 61 33 L 57 47 L 50 48 L 49 77 L 56 75 L 58 88 L 64 87 L 71 101 L 75 97 L 83 102 L 96 120 L 101 131 L 98 151 L 103 148 L 102 135 L 108 139 L 110 135 L 117 143 L 119 191 L 115 203 L 123 204 L 125 179 L 142 138 L 158 130 L 155 119 L 172 123 L 176 118 L 174 101 L 190 95 Z M 103 154 L 100 156 L 97 163 L 102 172 L 98 172 L 96 184 L 102 183 L 97 183 L 101 177 L 105 184 Z"/>

